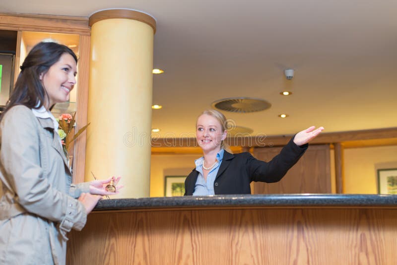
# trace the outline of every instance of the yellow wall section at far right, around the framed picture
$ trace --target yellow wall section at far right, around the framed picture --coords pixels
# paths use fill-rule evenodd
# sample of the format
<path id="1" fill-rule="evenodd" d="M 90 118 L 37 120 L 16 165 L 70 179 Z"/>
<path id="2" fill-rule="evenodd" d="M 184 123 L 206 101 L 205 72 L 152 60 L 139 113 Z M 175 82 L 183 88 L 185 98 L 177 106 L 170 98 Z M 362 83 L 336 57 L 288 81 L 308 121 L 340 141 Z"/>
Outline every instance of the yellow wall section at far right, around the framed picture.
<path id="1" fill-rule="evenodd" d="M 383 168 L 397 168 L 397 145 L 344 149 L 344 193 L 377 194 Z"/>

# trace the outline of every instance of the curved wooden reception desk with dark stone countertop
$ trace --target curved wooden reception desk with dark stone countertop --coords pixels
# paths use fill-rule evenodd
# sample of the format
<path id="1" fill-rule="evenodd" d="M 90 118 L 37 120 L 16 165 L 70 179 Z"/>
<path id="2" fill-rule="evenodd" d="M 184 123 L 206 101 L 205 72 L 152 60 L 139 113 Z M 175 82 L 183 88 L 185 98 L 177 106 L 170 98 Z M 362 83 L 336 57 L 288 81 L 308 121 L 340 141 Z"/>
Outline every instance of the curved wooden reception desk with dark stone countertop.
<path id="1" fill-rule="evenodd" d="M 397 264 L 397 196 L 101 200 L 67 264 Z"/>

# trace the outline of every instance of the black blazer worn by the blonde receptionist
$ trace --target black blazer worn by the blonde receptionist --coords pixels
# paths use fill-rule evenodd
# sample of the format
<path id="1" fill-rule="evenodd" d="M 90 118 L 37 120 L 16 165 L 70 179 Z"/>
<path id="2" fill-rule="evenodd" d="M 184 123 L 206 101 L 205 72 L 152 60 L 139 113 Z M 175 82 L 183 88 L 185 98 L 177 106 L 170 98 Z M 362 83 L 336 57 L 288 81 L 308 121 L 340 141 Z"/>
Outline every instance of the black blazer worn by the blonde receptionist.
<path id="1" fill-rule="evenodd" d="M 214 181 L 215 194 L 251 194 L 250 183 L 260 181 L 273 183 L 281 180 L 287 171 L 298 162 L 308 144 L 298 146 L 293 138 L 271 161 L 254 158 L 250 153 L 231 154 L 224 151 L 222 163 Z M 185 180 L 185 196 L 193 195 L 199 171 L 196 168 Z"/>

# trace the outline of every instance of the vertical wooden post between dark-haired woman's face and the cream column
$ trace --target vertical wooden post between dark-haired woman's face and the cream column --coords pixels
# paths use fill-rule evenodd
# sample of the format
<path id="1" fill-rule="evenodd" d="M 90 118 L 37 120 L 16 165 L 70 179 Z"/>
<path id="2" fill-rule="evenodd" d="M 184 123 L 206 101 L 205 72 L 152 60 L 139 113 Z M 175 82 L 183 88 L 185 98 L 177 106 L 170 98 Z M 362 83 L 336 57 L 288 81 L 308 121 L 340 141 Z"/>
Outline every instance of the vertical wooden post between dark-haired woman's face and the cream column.
<path id="1" fill-rule="evenodd" d="M 78 59 L 76 132 L 87 124 L 88 84 L 90 64 L 90 36 L 80 36 Z M 89 122 L 89 121 L 88 121 Z M 84 131 L 74 143 L 73 183 L 84 182 L 85 147 L 87 133 Z"/>

